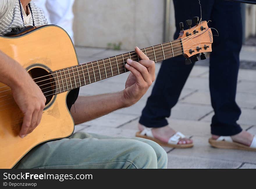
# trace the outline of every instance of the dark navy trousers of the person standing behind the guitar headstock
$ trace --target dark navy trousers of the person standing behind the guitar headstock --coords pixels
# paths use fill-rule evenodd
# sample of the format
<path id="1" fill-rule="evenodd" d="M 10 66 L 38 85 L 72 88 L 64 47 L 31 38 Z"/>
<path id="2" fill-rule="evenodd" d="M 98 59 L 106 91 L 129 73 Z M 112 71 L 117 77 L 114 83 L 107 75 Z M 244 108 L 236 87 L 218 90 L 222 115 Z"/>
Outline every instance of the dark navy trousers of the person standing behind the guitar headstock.
<path id="1" fill-rule="evenodd" d="M 179 22 L 200 17 L 198 0 L 174 0 L 176 32 Z M 211 20 L 209 27 L 216 28 L 210 54 L 209 87 L 214 116 L 211 133 L 214 135 L 235 135 L 242 131 L 237 124 L 241 110 L 235 102 L 239 52 L 242 46 L 242 24 L 240 3 L 224 0 L 201 0 L 202 20 Z M 186 28 L 186 27 L 185 27 Z M 216 34 L 214 30 L 213 34 Z M 171 109 L 177 103 L 182 88 L 194 63 L 185 65 L 183 55 L 163 61 L 151 96 L 142 111 L 139 122 L 147 127 L 168 125 Z"/>

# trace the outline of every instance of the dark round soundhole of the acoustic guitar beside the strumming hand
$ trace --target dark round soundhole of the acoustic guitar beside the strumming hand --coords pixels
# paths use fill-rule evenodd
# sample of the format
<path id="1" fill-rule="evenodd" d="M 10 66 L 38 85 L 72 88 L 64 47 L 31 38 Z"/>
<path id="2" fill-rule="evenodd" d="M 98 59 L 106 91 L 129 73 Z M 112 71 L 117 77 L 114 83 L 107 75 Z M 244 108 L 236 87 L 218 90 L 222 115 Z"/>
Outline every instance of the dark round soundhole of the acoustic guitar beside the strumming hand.
<path id="1" fill-rule="evenodd" d="M 39 67 L 35 67 L 29 70 L 29 74 L 45 95 L 45 105 L 49 104 L 55 93 L 54 78 L 49 73 L 49 71 Z"/>

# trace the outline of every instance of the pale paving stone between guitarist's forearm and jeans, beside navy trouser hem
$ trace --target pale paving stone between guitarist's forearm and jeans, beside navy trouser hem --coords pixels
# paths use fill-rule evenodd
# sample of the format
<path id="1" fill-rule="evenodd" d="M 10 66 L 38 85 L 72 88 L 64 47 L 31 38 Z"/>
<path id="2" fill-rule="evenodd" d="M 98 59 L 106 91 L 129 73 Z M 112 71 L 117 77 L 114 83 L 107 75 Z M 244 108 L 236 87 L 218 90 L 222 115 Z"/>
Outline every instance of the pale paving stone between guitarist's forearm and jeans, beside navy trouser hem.
<path id="1" fill-rule="evenodd" d="M 122 124 L 125 124 L 131 120 L 137 118 L 137 115 L 125 115 L 120 113 L 109 113 L 100 118 L 97 118 L 92 121 L 88 121 L 86 125 L 97 125 L 97 126 L 109 126 L 109 127 L 118 127 Z"/>

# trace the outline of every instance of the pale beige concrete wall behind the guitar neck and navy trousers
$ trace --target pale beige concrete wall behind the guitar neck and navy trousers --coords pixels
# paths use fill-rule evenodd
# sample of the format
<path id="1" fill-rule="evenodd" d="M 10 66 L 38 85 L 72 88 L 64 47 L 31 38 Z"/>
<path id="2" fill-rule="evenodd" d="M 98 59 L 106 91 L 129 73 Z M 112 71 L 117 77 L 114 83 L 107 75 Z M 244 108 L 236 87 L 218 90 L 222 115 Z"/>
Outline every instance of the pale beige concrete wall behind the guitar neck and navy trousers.
<path id="1" fill-rule="evenodd" d="M 163 41 L 164 0 L 76 0 L 75 45 L 103 47 L 122 43 L 121 49 L 148 47 Z M 173 1 L 170 2 L 170 32 L 175 32 Z M 256 35 L 256 5 L 246 5 L 245 36 Z M 185 24 L 185 23 L 184 23 Z"/>

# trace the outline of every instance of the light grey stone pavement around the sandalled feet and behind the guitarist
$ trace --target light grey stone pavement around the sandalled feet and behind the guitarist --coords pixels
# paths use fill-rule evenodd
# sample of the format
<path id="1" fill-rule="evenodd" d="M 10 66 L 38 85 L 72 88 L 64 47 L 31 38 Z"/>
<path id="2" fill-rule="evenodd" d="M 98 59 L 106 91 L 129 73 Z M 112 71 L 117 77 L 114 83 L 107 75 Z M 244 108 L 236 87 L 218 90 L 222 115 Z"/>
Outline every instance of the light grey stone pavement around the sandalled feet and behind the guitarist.
<path id="1" fill-rule="evenodd" d="M 127 51 L 76 47 L 80 63 L 107 58 Z M 256 48 L 244 46 L 241 60 L 256 60 Z M 160 63 L 156 64 L 156 74 Z M 80 89 L 80 95 L 95 95 L 121 91 L 129 73 L 90 84 Z M 224 150 L 208 144 L 213 116 L 209 94 L 209 68 L 196 65 L 181 93 L 179 102 L 168 118 L 170 126 L 194 141 L 189 149 L 167 148 L 168 168 L 256 168 L 256 152 Z M 133 106 L 117 110 L 101 118 L 78 125 L 77 131 L 112 136 L 134 137 L 138 119 L 152 87 Z M 242 128 L 256 134 L 256 70 L 240 69 L 237 85 L 237 103 L 242 114 L 238 121 Z"/>

